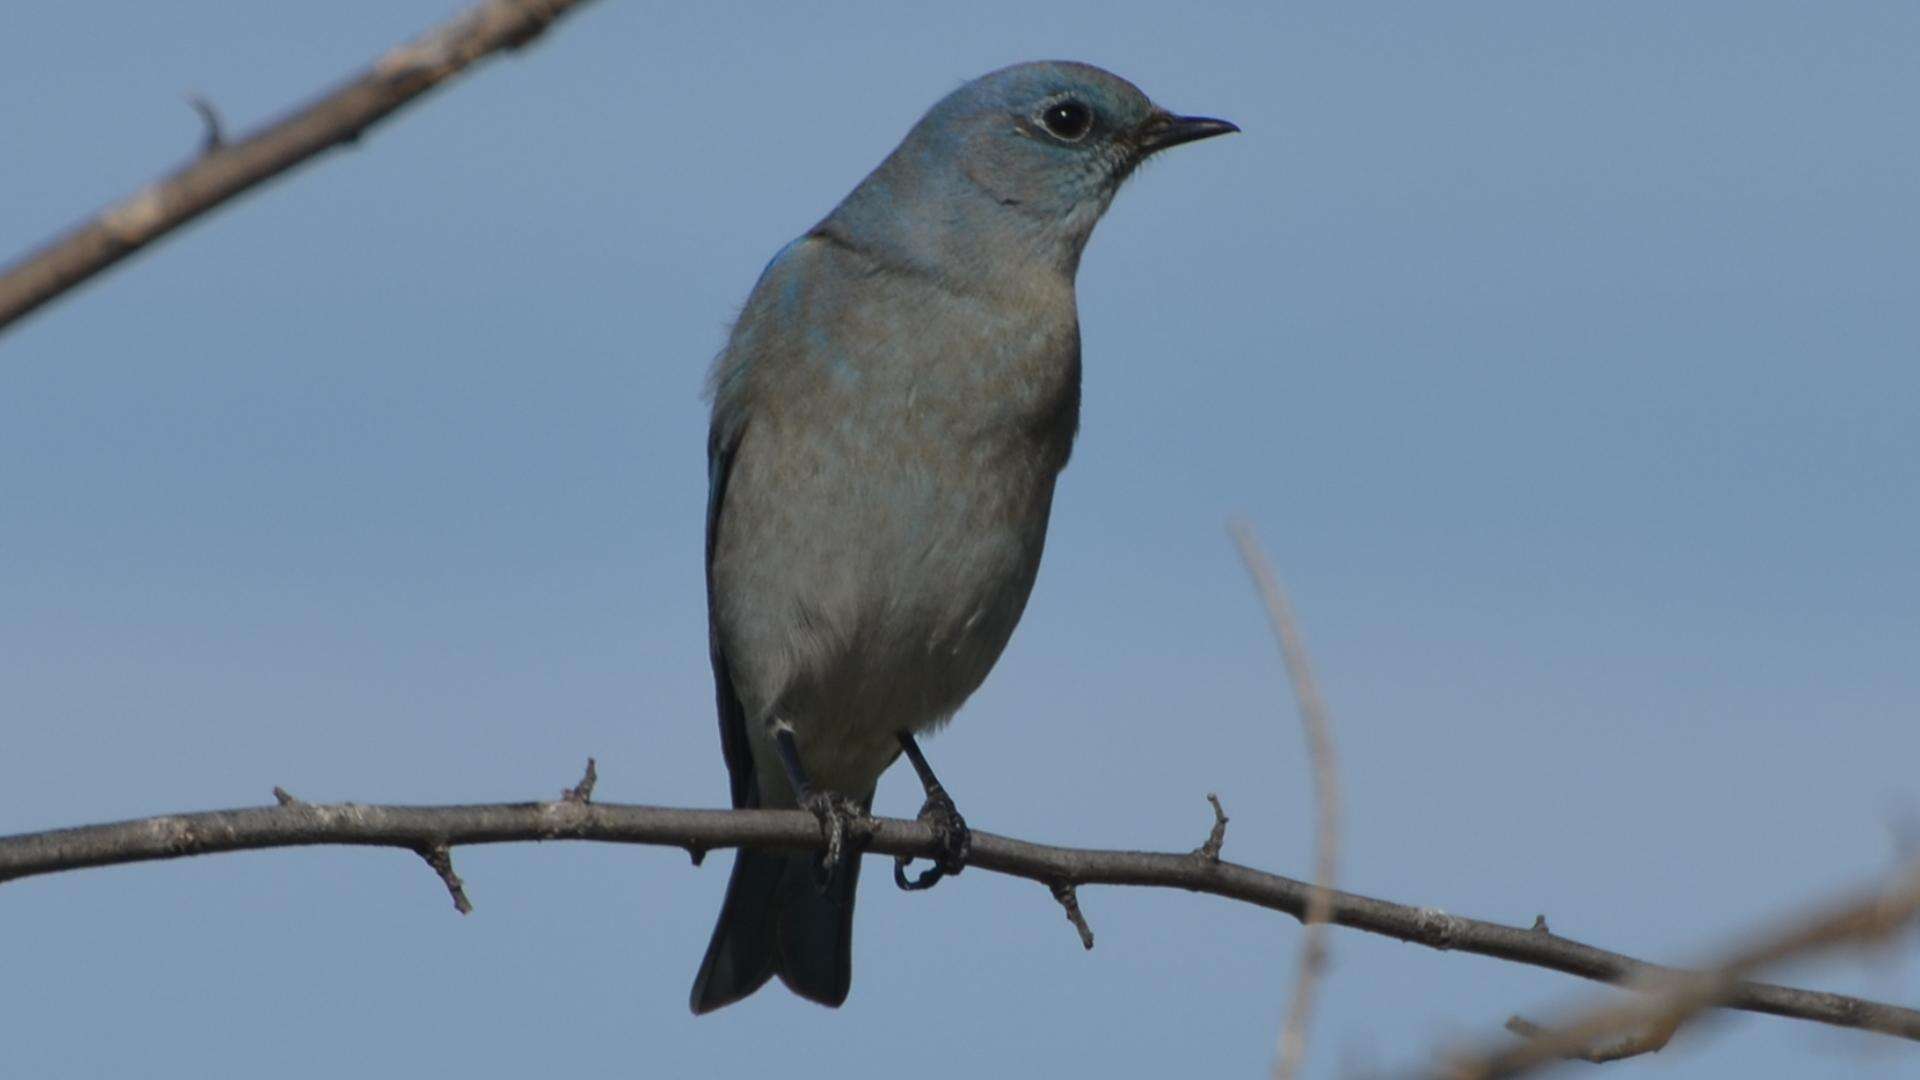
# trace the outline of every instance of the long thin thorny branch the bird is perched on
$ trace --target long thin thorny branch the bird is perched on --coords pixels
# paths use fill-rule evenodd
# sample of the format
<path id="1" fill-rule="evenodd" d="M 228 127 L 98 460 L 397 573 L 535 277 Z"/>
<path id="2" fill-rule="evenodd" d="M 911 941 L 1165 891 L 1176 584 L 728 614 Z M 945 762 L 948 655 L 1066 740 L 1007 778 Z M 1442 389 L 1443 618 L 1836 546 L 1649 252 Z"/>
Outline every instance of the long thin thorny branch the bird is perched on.
<path id="1" fill-rule="evenodd" d="M 806 811 L 720 811 L 616 805 L 555 799 L 453 807 L 317 805 L 292 799 L 273 807 L 204 811 L 88 824 L 52 832 L 0 836 L 0 882 L 217 851 L 342 844 L 405 851 L 511 844 L 532 840 L 597 840 L 684 847 L 689 855 L 712 847 L 818 851 L 820 822 Z M 872 819 L 866 851 L 933 857 L 933 830 L 918 821 Z M 970 867 L 1056 886 L 1164 886 L 1238 899 L 1304 919 L 1313 886 L 1212 859 L 1204 851 L 1094 851 L 1029 844 L 973 832 Z M 1432 949 L 1478 953 L 1544 967 L 1597 982 L 1630 982 L 1680 974 L 1620 953 L 1584 945 L 1544 930 L 1524 930 L 1409 907 L 1346 892 L 1331 894 L 1329 922 L 1384 934 Z M 1920 1042 L 1920 1009 L 1885 1005 L 1841 994 L 1793 990 L 1764 982 L 1734 982 L 1718 1007 L 1814 1020 Z"/>

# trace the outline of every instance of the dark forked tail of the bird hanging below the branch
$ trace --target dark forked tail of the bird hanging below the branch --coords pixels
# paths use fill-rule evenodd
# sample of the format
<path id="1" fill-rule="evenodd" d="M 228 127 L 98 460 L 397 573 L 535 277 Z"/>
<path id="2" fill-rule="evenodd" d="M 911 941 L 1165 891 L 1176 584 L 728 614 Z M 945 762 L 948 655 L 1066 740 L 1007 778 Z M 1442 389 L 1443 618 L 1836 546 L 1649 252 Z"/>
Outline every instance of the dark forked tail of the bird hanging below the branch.
<path id="1" fill-rule="evenodd" d="M 818 853 L 733 855 L 726 903 L 693 976 L 695 1015 L 732 1005 L 776 974 L 810 1001 L 837 1007 L 847 999 L 860 855 L 849 851 L 826 890 L 814 882 L 818 861 Z"/>

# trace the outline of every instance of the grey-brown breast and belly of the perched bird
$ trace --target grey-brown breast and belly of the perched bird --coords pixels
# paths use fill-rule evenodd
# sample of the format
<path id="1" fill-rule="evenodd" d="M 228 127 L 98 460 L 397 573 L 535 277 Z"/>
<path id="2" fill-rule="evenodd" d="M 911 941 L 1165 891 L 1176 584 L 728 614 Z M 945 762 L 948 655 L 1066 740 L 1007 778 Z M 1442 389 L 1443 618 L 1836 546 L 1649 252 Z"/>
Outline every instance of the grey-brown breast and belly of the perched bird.
<path id="1" fill-rule="evenodd" d="M 778 336 L 735 336 L 755 354 L 716 400 L 743 434 L 714 621 L 749 717 L 781 715 L 803 751 L 843 748 L 826 767 L 858 790 L 893 732 L 960 707 L 1025 609 L 1079 417 L 1079 336 L 1071 306 L 902 281 L 858 302 L 808 292 Z"/>

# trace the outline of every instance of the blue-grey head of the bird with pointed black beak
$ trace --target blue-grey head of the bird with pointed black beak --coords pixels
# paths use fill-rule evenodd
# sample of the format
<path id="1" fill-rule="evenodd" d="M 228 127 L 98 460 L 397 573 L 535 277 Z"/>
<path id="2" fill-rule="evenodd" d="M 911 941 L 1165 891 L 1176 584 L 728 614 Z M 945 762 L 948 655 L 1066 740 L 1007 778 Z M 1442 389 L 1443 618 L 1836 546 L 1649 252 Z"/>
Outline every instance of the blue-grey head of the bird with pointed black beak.
<path id="1" fill-rule="evenodd" d="M 1169 113 L 1089 63 L 1016 63 L 927 110 L 835 217 L 874 233 L 904 227 L 891 238 L 922 248 L 908 254 L 945 248 L 939 258 L 952 259 L 973 248 L 968 240 L 987 238 L 1002 254 L 1027 248 L 1071 275 L 1140 161 L 1229 131 L 1240 129 Z"/>

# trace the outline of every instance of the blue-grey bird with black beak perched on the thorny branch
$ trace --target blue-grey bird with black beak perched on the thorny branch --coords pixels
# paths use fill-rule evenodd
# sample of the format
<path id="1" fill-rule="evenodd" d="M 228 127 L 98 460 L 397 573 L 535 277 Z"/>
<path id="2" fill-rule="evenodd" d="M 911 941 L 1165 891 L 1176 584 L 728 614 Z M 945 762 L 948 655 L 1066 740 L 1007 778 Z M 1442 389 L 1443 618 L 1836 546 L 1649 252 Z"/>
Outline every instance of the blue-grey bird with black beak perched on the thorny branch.
<path id="1" fill-rule="evenodd" d="M 741 849 L 693 1013 L 852 980 L 849 830 L 904 755 L 956 874 L 966 821 L 916 736 L 979 688 L 1041 565 L 1079 430 L 1075 275 L 1146 158 L 1238 131 L 1075 61 L 947 94 L 760 273 L 707 392 L 707 615 L 735 807 L 803 807 L 826 853 Z"/>

